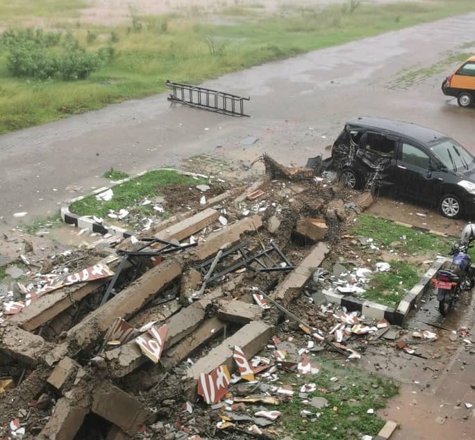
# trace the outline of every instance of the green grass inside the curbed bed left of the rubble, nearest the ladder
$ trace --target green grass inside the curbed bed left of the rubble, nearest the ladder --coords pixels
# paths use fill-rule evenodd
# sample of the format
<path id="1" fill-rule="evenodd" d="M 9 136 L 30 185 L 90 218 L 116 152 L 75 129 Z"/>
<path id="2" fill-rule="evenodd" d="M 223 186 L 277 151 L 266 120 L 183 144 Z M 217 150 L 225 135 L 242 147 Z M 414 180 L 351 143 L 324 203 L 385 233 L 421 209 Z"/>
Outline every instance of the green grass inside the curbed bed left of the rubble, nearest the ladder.
<path id="1" fill-rule="evenodd" d="M 90 195 L 69 205 L 69 210 L 78 215 L 97 215 L 105 217 L 110 210 L 134 207 L 141 213 L 153 212 L 150 205 L 141 205 L 145 198 L 153 199 L 160 195 L 158 188 L 168 185 L 197 185 L 205 183 L 203 179 L 179 174 L 171 170 L 149 171 L 140 177 L 135 177 L 123 184 L 113 187 L 113 198 L 109 201 L 98 200 L 95 195 Z"/>

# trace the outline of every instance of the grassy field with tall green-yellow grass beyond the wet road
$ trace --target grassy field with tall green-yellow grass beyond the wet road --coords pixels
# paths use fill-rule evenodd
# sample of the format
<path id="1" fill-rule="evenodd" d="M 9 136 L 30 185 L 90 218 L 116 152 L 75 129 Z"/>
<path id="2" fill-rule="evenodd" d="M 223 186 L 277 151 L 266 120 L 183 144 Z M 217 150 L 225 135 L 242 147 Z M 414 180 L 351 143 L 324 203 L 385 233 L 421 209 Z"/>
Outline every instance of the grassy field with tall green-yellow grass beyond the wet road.
<path id="1" fill-rule="evenodd" d="M 40 24 L 73 35 L 89 51 L 111 45 L 115 56 L 83 81 L 17 79 L 7 69 L 8 48 L 0 41 L 0 133 L 163 92 L 167 79 L 200 83 L 226 72 L 475 10 L 473 0 L 433 0 L 361 3 L 351 11 L 349 1 L 342 0 L 326 8 L 289 3 L 265 13 L 260 3 L 249 2 L 217 8 L 211 15 L 199 7 L 165 16 L 139 16 L 131 9 L 128 24 L 108 27 L 81 22 L 86 1 L 3 3 L 3 29 Z"/>

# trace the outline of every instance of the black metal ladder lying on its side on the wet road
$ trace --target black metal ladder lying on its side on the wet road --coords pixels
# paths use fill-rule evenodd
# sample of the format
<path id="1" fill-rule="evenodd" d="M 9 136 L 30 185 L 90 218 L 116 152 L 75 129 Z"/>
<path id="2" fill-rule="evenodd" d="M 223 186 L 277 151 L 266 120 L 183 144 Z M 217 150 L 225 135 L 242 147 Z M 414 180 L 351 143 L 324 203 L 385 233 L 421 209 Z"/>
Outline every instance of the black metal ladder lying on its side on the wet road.
<path id="1" fill-rule="evenodd" d="M 167 80 L 167 85 L 172 88 L 172 92 L 168 96 L 169 101 L 223 113 L 224 115 L 249 117 L 244 113 L 244 101 L 249 101 L 249 98 L 198 87 L 197 85 L 174 83 L 169 80 Z"/>

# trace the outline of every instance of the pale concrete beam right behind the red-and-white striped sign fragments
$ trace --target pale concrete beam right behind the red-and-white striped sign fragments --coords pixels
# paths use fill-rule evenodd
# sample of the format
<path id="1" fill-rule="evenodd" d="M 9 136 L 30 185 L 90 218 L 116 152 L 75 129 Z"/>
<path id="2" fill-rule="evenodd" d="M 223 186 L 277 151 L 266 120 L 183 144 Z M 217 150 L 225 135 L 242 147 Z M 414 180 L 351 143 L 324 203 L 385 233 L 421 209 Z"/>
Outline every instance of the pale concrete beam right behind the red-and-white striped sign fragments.
<path id="1" fill-rule="evenodd" d="M 244 325 L 238 332 L 229 336 L 220 345 L 213 348 L 208 355 L 188 368 L 188 377 L 198 380 L 201 373 L 208 374 L 220 365 L 226 365 L 228 370 L 232 372 L 236 368 L 233 359 L 234 346 L 239 345 L 247 359 L 250 359 L 265 347 L 273 331 L 274 327 L 263 321 L 253 321 Z"/>

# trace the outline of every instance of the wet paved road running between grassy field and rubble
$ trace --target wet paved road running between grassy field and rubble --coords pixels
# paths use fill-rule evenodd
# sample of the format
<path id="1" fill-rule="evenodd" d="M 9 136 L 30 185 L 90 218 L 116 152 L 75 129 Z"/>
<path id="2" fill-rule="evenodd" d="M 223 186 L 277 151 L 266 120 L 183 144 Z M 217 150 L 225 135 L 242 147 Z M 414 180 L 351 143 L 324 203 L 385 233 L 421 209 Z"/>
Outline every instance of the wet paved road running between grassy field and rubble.
<path id="1" fill-rule="evenodd" d="M 177 164 L 192 154 L 218 151 L 244 161 L 267 152 L 283 163 L 303 164 L 308 156 L 324 152 L 344 120 L 354 115 L 436 127 L 475 149 L 475 111 L 447 104 L 440 93 L 445 72 L 409 88 L 390 88 L 402 70 L 431 66 L 461 44 L 475 44 L 467 32 L 473 28 L 475 13 L 314 51 L 204 84 L 251 97 L 245 108 L 250 118 L 172 106 L 165 93 L 0 136 L 0 228 L 54 213 L 74 196 L 65 190 L 68 185 L 85 191 L 104 186 L 107 182 L 100 176 L 111 167 L 135 174 Z M 244 147 L 240 140 L 246 136 L 259 141 Z M 21 211 L 28 215 L 13 216 Z"/>

